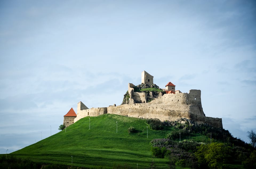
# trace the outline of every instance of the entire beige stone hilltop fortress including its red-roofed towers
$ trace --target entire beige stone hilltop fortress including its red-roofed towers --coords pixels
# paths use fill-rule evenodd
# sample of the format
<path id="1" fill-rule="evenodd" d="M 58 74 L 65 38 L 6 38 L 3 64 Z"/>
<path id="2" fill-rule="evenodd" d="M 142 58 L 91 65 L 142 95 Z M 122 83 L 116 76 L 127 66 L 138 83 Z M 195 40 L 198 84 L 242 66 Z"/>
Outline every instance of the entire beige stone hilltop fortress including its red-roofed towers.
<path id="1" fill-rule="evenodd" d="M 189 90 L 182 93 L 175 90 L 175 85 L 167 83 L 166 89 L 160 89 L 153 84 L 153 76 L 146 71 L 141 73 L 141 85 L 128 84 L 128 91 L 124 95 L 121 105 L 102 108 L 87 108 L 81 101 L 77 104 L 77 115 L 73 108 L 64 116 L 63 124 L 66 126 L 77 122 L 86 116 L 99 116 L 102 114 L 118 114 L 136 118 L 157 118 L 161 121 L 192 120 L 195 124 L 209 124 L 223 128 L 221 118 L 206 117 L 201 104 L 201 90 Z M 146 86 L 146 87 L 145 87 Z M 141 88 L 159 88 L 161 92 L 136 92 Z"/>

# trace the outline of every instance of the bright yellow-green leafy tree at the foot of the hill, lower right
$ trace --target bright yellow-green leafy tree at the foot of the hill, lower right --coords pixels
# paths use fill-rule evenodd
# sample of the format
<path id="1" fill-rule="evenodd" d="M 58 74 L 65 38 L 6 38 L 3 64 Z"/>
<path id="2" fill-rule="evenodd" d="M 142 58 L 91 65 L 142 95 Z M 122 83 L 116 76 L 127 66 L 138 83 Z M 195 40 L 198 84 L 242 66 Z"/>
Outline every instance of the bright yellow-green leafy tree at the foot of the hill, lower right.
<path id="1" fill-rule="evenodd" d="M 208 163 L 209 168 L 223 168 L 223 162 L 229 158 L 230 146 L 224 143 L 211 143 L 208 145 L 201 145 L 195 152 L 198 163 Z"/>

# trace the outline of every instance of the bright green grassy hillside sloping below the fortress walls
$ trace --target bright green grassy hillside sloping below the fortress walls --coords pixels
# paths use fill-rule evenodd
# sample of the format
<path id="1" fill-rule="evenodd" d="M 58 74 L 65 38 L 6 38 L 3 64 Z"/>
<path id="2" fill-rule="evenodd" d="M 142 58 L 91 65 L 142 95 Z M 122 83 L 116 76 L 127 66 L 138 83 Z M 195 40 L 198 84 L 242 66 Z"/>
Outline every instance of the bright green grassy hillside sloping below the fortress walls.
<path id="1" fill-rule="evenodd" d="M 135 133 L 128 134 L 130 126 L 135 127 Z M 137 168 L 137 164 L 138 168 L 149 168 L 152 162 L 157 168 L 168 168 L 167 159 L 153 158 L 149 142 L 165 138 L 172 130 L 176 128 L 155 131 L 149 128 L 146 119 L 104 114 L 80 119 L 66 132 L 60 131 L 11 154 L 35 162 L 70 166 L 72 160 L 73 166 L 86 168 Z M 190 139 L 208 142 L 208 138 L 196 134 Z"/>

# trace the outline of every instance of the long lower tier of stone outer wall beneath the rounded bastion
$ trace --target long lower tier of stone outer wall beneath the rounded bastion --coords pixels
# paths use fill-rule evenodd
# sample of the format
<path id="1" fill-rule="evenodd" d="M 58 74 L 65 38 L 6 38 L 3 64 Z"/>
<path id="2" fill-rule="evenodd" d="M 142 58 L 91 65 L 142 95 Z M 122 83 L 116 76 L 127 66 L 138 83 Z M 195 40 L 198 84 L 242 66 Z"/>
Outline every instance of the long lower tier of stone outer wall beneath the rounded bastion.
<path id="1" fill-rule="evenodd" d="M 166 109 L 168 107 L 168 109 Z M 161 121 L 178 121 L 181 118 L 193 120 L 196 124 L 208 123 L 223 128 L 221 118 L 205 117 L 197 105 L 154 105 L 143 104 L 110 106 L 107 113 L 136 118 L 158 118 Z"/>

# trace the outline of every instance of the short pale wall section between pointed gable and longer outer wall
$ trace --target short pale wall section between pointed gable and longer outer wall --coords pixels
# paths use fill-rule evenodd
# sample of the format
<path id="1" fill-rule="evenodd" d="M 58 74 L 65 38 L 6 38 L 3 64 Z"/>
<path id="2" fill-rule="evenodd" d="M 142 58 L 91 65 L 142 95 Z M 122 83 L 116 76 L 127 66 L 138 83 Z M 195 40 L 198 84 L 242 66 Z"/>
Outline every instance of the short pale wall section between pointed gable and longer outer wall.
<path id="1" fill-rule="evenodd" d="M 74 122 L 77 122 L 79 119 L 87 117 L 87 116 L 99 116 L 99 115 L 106 114 L 106 113 L 107 113 L 106 107 L 80 110 L 80 111 L 77 111 L 77 118 L 74 119 Z"/>

